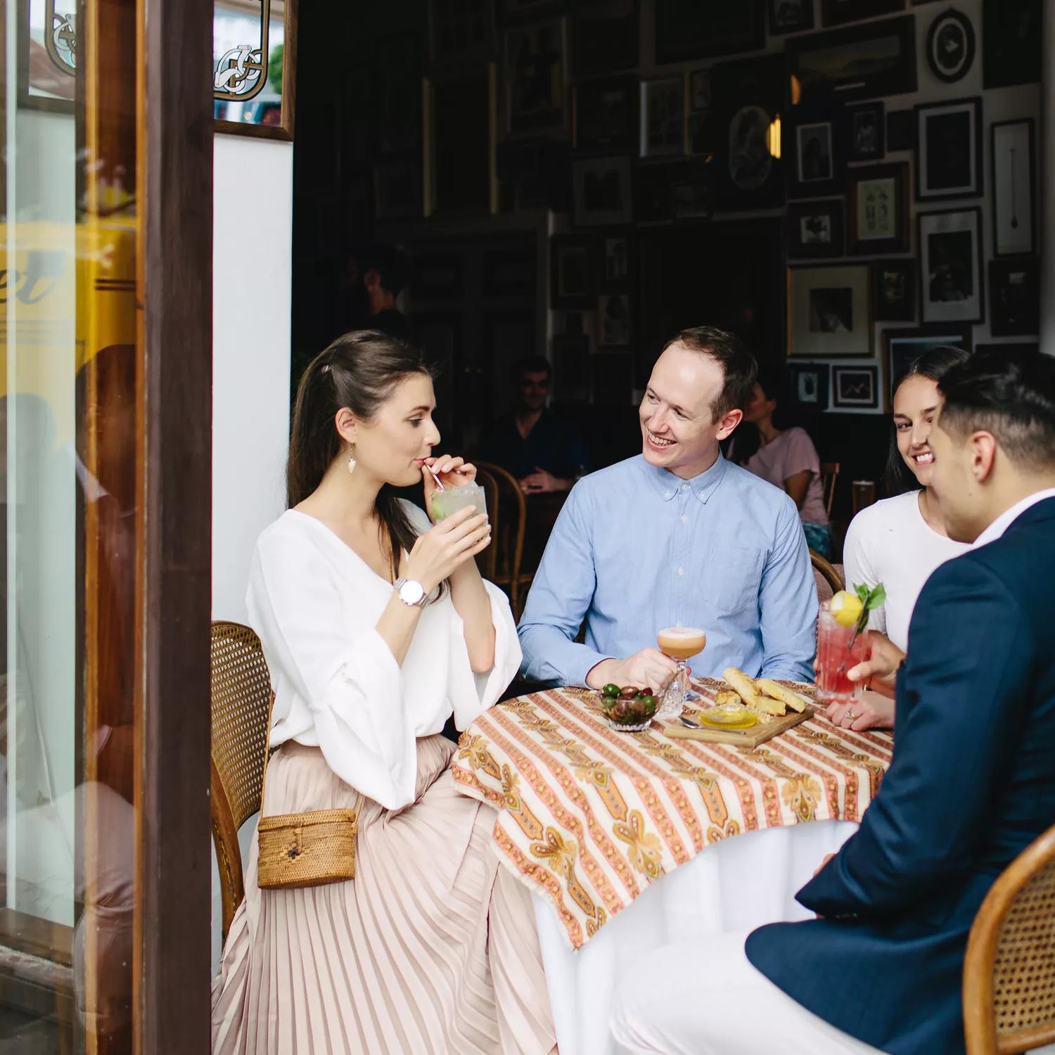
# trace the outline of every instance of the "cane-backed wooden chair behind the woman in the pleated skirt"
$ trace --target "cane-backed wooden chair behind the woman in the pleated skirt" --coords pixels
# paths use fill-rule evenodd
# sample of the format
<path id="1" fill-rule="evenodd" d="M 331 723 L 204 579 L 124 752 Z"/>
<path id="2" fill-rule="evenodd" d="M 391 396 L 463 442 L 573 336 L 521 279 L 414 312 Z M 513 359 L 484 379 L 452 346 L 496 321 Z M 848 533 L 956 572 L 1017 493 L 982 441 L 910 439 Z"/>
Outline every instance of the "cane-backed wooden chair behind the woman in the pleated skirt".
<path id="1" fill-rule="evenodd" d="M 238 622 L 212 625 L 212 838 L 224 940 L 245 896 L 238 828 L 261 808 L 271 678 L 260 638 Z"/>

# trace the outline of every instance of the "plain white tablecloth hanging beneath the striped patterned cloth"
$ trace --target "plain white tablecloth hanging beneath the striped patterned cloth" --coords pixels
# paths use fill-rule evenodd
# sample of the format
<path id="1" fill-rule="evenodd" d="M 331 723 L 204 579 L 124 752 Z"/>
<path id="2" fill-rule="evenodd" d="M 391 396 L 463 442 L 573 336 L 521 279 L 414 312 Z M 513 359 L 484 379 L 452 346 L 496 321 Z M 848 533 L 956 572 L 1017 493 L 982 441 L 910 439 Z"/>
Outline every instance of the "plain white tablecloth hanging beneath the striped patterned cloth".
<path id="1" fill-rule="evenodd" d="M 609 1034 L 612 997 L 639 953 L 698 937 L 706 971 L 707 935 L 808 919 L 794 900 L 824 860 L 857 830 L 848 821 L 810 821 L 734 836 L 663 876 L 611 919 L 578 953 L 553 905 L 535 898 L 542 961 L 560 1055 L 615 1055 Z"/>

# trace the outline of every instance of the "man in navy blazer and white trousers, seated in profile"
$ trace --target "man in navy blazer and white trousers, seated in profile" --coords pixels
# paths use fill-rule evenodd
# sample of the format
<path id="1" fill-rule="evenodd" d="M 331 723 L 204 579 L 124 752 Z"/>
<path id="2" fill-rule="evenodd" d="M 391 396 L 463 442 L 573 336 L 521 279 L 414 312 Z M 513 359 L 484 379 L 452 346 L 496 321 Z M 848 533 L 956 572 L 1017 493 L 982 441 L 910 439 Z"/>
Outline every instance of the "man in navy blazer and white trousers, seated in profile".
<path id="1" fill-rule="evenodd" d="M 979 353 L 940 388 L 934 486 L 950 535 L 976 544 L 920 594 L 889 771 L 798 894 L 816 920 L 642 965 L 612 1023 L 629 1051 L 964 1050 L 971 924 L 1055 824 L 1055 359 Z"/>

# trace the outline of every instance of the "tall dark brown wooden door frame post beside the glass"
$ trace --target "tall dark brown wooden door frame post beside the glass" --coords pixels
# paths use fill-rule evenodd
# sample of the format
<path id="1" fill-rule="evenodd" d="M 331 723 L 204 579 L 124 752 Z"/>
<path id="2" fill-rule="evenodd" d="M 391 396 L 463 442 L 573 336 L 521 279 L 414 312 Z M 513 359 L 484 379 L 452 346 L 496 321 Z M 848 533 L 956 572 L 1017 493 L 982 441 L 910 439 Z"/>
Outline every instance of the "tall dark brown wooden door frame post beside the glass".
<path id="1" fill-rule="evenodd" d="M 136 1052 L 210 1047 L 213 0 L 137 0 L 145 224 Z"/>

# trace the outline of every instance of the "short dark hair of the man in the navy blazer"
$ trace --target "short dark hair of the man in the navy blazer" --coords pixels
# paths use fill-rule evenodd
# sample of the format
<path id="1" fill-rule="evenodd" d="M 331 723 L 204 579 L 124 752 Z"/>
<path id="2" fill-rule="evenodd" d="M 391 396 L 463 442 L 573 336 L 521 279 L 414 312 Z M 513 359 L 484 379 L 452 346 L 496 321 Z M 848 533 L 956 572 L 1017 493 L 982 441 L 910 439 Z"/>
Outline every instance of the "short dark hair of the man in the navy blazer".
<path id="1" fill-rule="evenodd" d="M 992 433 L 1023 468 L 1055 465 L 1055 359 L 1038 351 L 977 351 L 951 367 L 938 388 L 946 433 Z"/>

